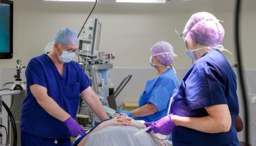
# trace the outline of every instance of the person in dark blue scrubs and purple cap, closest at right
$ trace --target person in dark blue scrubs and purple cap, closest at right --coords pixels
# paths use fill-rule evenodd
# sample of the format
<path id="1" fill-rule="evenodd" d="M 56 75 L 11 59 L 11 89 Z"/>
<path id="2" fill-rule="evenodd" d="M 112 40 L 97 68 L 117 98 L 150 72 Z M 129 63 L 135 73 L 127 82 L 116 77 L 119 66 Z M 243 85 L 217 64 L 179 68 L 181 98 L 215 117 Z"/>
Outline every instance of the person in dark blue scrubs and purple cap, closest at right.
<path id="1" fill-rule="evenodd" d="M 236 74 L 222 54 L 223 37 L 223 26 L 208 12 L 193 14 L 181 34 L 195 63 L 174 93 L 172 114 L 144 123 L 155 133 L 172 132 L 174 146 L 239 145 Z"/>

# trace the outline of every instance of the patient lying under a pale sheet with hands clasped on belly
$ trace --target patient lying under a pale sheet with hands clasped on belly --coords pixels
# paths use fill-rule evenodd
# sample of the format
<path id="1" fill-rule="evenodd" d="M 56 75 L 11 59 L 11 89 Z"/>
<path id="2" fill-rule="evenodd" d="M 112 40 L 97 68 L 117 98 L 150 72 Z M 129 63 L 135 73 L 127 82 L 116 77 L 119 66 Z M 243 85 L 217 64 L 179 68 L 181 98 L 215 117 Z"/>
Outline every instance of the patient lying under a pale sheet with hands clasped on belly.
<path id="1" fill-rule="evenodd" d="M 86 136 L 80 137 L 74 145 L 78 146 L 151 146 L 166 145 L 161 141 L 154 141 L 146 132 L 134 135 L 141 128 L 146 128 L 141 122 L 137 122 L 125 114 L 117 114 L 111 120 L 105 120 L 95 126 Z M 157 144 L 156 144 L 157 143 Z"/>

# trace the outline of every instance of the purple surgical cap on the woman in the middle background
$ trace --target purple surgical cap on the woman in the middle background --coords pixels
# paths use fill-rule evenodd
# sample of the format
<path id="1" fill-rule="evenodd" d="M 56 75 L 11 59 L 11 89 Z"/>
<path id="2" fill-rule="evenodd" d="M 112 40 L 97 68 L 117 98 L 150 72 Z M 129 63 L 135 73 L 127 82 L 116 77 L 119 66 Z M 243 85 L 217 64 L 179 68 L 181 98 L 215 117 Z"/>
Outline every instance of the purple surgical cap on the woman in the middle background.
<path id="1" fill-rule="evenodd" d="M 166 41 L 159 41 L 150 49 L 151 55 L 155 56 L 162 64 L 169 66 L 177 56 L 174 54 L 172 45 Z"/>

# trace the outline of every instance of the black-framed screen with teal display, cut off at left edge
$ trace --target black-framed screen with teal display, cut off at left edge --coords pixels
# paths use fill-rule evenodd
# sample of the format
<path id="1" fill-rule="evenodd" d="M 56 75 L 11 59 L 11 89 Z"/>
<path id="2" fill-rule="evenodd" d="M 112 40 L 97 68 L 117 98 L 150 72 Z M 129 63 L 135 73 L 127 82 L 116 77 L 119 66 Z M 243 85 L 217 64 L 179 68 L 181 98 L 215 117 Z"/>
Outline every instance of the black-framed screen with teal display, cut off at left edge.
<path id="1" fill-rule="evenodd" d="M 0 2 L 0 59 L 13 58 L 13 1 Z"/>

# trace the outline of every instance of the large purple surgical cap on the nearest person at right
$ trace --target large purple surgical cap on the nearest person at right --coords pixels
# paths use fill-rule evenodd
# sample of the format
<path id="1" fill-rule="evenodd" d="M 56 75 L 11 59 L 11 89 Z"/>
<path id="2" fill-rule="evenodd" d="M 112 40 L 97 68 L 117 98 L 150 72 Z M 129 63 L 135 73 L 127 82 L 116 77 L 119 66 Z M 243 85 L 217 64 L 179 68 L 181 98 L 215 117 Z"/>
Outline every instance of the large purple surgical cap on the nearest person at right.
<path id="1" fill-rule="evenodd" d="M 187 21 L 183 34 L 198 43 L 215 47 L 222 43 L 225 31 L 215 16 L 197 12 Z"/>

